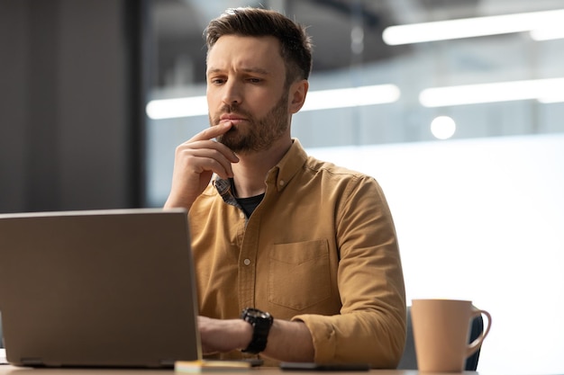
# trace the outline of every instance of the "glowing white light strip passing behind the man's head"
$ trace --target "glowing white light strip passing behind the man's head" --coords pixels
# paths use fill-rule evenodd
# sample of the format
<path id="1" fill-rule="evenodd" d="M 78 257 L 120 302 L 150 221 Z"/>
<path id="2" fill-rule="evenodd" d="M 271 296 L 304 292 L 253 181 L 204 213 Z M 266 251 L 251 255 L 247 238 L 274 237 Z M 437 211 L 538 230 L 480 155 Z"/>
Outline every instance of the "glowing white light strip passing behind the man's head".
<path id="1" fill-rule="evenodd" d="M 400 91 L 396 85 L 371 85 L 312 91 L 307 94 L 302 112 L 394 103 L 399 99 L 399 96 Z M 205 96 L 154 100 L 147 104 L 145 111 L 152 120 L 205 116 L 208 113 Z"/>

